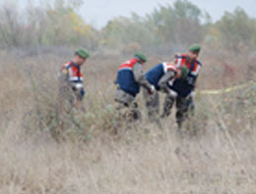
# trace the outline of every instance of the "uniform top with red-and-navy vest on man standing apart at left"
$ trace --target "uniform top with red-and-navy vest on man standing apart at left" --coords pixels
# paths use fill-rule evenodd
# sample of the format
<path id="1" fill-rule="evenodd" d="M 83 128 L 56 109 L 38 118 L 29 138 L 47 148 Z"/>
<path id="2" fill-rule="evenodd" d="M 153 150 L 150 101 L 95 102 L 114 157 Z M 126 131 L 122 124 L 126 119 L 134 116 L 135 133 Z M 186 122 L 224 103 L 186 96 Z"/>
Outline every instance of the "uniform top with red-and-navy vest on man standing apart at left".
<path id="1" fill-rule="evenodd" d="M 80 66 L 76 65 L 74 62 L 69 62 L 62 67 L 59 76 L 61 81 L 65 81 L 72 87 L 78 99 L 82 100 L 85 95 L 85 90 Z"/>

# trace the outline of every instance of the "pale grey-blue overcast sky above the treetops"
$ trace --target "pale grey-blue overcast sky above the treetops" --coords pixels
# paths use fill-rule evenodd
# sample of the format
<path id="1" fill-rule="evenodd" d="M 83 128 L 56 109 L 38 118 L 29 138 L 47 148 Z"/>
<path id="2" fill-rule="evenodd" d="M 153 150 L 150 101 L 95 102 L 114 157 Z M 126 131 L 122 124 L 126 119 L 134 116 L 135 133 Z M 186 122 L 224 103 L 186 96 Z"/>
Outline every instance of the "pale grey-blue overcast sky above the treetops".
<path id="1" fill-rule="evenodd" d="M 256 18 L 256 0 L 189 0 L 202 11 L 208 12 L 214 21 L 224 15 L 224 11 L 232 12 L 237 6 Z M 175 0 L 84 0 L 80 14 L 87 23 L 100 28 L 118 16 L 131 16 L 132 12 L 140 16 L 151 13 L 158 5 L 172 5 Z"/>

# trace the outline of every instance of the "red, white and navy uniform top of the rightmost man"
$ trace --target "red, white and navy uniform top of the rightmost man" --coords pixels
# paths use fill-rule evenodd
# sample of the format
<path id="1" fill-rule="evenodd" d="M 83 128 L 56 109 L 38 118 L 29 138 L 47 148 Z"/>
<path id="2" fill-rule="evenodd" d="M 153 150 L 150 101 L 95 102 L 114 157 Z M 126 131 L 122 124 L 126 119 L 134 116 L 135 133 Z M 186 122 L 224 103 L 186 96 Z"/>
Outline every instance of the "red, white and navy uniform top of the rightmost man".
<path id="1" fill-rule="evenodd" d="M 188 61 L 188 55 L 186 54 L 175 56 L 175 66 L 177 68 L 186 66 L 189 70 L 186 79 L 177 78 L 169 82 L 170 89 L 177 92 L 179 97 L 187 97 L 195 89 L 198 73 L 202 67 L 202 64 L 197 60 L 192 63 L 189 63 Z"/>

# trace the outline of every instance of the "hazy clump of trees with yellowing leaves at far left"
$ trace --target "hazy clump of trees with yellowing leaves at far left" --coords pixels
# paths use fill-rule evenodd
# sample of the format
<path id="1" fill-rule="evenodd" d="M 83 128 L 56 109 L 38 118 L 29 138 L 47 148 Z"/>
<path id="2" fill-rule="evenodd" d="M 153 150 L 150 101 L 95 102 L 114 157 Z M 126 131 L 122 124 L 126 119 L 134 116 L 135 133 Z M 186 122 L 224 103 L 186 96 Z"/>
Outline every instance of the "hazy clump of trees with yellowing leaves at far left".
<path id="1" fill-rule="evenodd" d="M 96 48 L 96 29 L 77 14 L 82 4 L 82 0 L 54 0 L 43 7 L 31 1 L 23 15 L 16 4 L 5 4 L 0 9 L 1 45 L 85 45 L 89 49 Z"/>

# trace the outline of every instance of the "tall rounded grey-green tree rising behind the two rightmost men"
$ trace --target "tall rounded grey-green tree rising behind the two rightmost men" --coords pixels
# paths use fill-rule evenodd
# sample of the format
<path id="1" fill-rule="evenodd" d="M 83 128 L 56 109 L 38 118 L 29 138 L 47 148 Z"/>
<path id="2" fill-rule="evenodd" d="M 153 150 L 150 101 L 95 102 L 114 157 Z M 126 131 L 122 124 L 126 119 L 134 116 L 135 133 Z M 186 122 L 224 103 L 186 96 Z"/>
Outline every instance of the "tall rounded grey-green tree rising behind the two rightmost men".
<path id="1" fill-rule="evenodd" d="M 186 0 L 177 0 L 173 7 L 160 6 L 148 15 L 148 24 L 156 28 L 161 44 L 169 47 L 186 48 L 203 38 L 201 10 Z"/>

